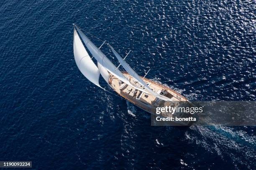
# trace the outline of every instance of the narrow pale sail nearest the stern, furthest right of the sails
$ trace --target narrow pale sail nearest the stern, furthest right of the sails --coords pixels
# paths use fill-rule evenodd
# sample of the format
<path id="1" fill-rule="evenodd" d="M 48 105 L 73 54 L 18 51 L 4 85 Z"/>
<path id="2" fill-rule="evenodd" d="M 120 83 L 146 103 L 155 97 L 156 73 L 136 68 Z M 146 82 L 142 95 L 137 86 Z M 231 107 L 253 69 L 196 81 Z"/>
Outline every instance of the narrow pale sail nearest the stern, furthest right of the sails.
<path id="1" fill-rule="evenodd" d="M 115 57 L 118 59 L 118 61 L 120 62 L 120 64 L 123 66 L 123 68 L 133 77 L 135 78 L 141 85 L 143 85 L 145 87 L 146 90 L 148 90 L 148 92 L 150 92 L 152 95 L 154 95 L 155 97 L 158 97 L 162 100 L 165 101 L 171 101 L 171 99 L 169 99 L 166 96 L 157 94 L 156 92 L 154 92 L 150 87 L 148 87 L 148 85 L 146 84 L 146 82 L 144 82 L 141 77 L 127 64 L 127 62 L 125 62 L 125 60 L 123 60 L 123 58 L 113 49 L 113 47 L 111 47 L 109 45 L 109 47 L 111 48 L 111 50 L 113 51 Z"/>

